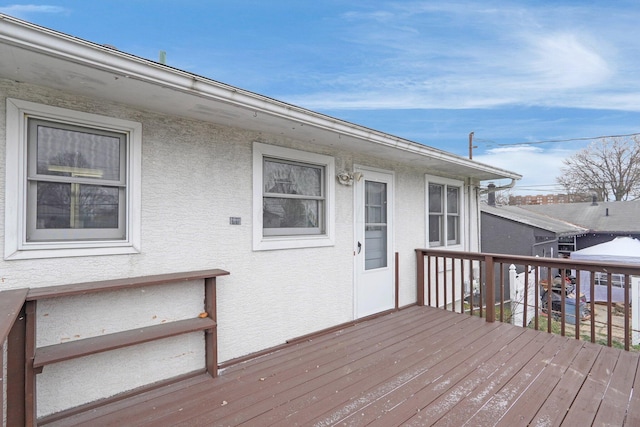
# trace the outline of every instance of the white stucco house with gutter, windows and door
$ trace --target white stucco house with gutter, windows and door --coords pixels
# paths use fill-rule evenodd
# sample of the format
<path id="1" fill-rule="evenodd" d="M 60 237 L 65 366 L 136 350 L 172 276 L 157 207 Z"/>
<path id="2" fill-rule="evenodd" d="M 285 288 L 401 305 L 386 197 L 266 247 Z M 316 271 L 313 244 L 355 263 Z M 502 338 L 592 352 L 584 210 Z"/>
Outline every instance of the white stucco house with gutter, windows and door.
<path id="1" fill-rule="evenodd" d="M 478 250 L 478 188 L 520 178 L 5 15 L 0 58 L 0 290 L 224 269 L 221 362 L 415 303 L 414 249 Z M 195 317 L 202 295 L 39 302 L 37 345 Z M 46 366 L 38 414 L 201 369 L 202 335 Z"/>

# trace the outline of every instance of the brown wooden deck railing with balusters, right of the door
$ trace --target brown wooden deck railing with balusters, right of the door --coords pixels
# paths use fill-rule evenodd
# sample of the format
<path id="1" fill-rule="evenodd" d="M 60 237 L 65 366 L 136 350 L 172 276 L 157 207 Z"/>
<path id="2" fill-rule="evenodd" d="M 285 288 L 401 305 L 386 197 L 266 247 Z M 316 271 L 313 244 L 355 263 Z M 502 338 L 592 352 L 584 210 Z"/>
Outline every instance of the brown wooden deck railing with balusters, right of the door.
<path id="1" fill-rule="evenodd" d="M 416 256 L 418 305 L 479 315 L 487 322 L 515 322 L 609 347 L 640 349 L 640 301 L 635 307 L 632 303 L 633 287 L 640 298 L 640 282 L 632 286 L 640 277 L 640 266 L 433 249 L 416 249 Z M 514 271 L 525 284 L 518 299 L 510 295 Z M 617 293 L 622 294 L 617 303 L 614 279 L 619 279 Z M 606 287 L 606 298 L 598 303 L 596 286 Z M 591 295 L 588 302 L 581 298 L 585 292 Z M 516 313 L 513 307 L 518 304 Z M 635 328 L 632 316 L 638 319 Z"/>

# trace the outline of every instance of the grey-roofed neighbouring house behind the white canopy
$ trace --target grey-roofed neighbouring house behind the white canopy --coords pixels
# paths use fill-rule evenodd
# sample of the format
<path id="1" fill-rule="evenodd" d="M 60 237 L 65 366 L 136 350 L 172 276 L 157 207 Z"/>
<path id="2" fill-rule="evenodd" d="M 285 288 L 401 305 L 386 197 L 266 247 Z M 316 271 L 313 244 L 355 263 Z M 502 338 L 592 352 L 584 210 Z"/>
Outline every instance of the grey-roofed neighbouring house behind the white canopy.
<path id="1" fill-rule="evenodd" d="M 548 218 L 565 221 L 584 229 L 582 232 L 564 233 L 559 251 L 573 251 L 609 242 L 616 237 L 640 239 L 640 200 L 624 202 L 582 202 L 562 205 L 527 205 L 523 210 Z"/>

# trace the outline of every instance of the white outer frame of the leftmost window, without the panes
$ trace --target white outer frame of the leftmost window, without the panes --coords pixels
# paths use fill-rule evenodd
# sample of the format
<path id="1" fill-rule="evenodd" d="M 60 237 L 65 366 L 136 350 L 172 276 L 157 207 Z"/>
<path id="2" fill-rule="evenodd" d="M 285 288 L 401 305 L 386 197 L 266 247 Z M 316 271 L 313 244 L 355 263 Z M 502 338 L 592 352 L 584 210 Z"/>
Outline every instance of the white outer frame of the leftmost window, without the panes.
<path id="1" fill-rule="evenodd" d="M 28 118 L 110 130 L 127 135 L 124 239 L 27 242 Z M 141 123 L 8 98 L 6 135 L 5 260 L 140 252 Z"/>

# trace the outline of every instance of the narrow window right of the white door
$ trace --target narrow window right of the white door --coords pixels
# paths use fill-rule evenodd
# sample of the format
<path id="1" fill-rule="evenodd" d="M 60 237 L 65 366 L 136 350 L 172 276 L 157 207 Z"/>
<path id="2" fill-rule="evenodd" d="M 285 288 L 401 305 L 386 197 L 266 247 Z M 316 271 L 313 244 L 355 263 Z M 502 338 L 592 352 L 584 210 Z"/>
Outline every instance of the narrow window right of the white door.
<path id="1" fill-rule="evenodd" d="M 427 178 L 428 242 L 430 247 L 462 243 L 462 184 Z"/>

